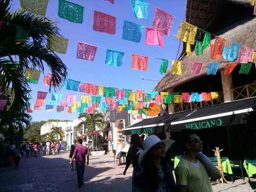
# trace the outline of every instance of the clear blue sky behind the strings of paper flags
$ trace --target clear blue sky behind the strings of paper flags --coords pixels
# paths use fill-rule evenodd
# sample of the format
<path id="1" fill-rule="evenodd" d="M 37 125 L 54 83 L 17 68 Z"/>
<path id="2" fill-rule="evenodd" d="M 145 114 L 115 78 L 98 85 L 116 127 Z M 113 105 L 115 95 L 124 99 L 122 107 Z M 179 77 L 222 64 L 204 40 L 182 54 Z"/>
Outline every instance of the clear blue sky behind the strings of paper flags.
<path id="1" fill-rule="evenodd" d="M 169 60 L 168 69 L 170 68 L 171 61 L 176 60 L 180 44 L 180 41 L 176 39 L 176 34 L 181 20 L 185 18 L 186 0 L 145 0 L 149 3 L 148 20 L 135 18 L 129 0 L 114 0 L 114 4 L 111 4 L 108 0 L 69 1 L 84 7 L 82 24 L 72 23 L 58 16 L 59 0 L 49 0 L 45 15 L 57 21 L 58 27 L 62 31 L 61 34 L 64 38 L 69 39 L 66 54 L 57 53 L 68 68 L 67 78 L 105 87 L 131 89 L 133 92 L 136 92 L 136 90 L 144 90 L 146 93 L 152 91 L 157 82 L 151 80 L 160 80 L 164 75 L 161 75 L 159 72 L 161 60 L 157 58 Z M 20 0 L 13 0 L 12 11 L 19 8 L 21 8 Z M 146 27 L 152 28 L 156 8 L 174 16 L 170 35 L 163 35 L 163 47 L 159 45 L 146 45 L 145 43 Z M 116 17 L 115 34 L 93 30 L 95 10 Z M 140 43 L 122 39 L 124 20 L 144 26 Z M 84 42 L 98 47 L 94 61 L 76 59 L 77 42 Z M 125 52 L 122 66 L 105 64 L 106 49 Z M 148 70 L 133 70 L 131 68 L 131 54 L 149 57 Z M 47 75 L 48 72 L 51 73 L 46 68 L 44 75 Z M 151 80 L 142 80 L 141 76 Z M 37 85 L 30 84 L 30 87 L 32 90 L 30 102 L 33 107 L 37 91 L 48 92 L 49 90 L 49 86 L 43 85 L 43 73 L 40 75 L 39 83 Z M 51 99 L 52 93 L 55 92 L 52 91 L 47 94 L 45 104 L 48 104 L 48 99 Z M 77 101 L 80 101 L 81 95 L 87 95 L 64 89 L 59 90 L 57 93 L 63 94 L 62 100 L 65 100 L 66 94 L 77 95 Z M 57 101 L 58 105 L 60 105 L 59 102 Z M 102 102 L 104 102 L 104 97 L 101 98 L 100 105 Z M 48 119 L 74 120 L 78 117 L 79 113 L 73 112 L 69 114 L 65 112 L 65 109 L 59 113 L 56 112 L 56 106 L 53 111 L 47 112 L 44 105 L 42 110 L 34 110 L 30 115 L 33 121 L 47 121 Z"/>

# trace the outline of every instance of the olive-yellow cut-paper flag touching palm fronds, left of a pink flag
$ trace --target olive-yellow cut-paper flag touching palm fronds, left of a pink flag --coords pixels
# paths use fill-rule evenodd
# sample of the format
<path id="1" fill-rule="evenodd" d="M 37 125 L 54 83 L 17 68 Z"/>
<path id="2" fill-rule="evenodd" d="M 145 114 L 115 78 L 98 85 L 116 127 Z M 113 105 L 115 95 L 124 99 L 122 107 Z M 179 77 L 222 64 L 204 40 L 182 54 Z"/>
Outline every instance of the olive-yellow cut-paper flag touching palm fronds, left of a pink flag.
<path id="1" fill-rule="evenodd" d="M 50 35 L 47 38 L 47 44 L 46 47 L 49 50 L 56 51 L 57 53 L 66 54 L 68 39 L 56 36 L 56 35 Z"/>

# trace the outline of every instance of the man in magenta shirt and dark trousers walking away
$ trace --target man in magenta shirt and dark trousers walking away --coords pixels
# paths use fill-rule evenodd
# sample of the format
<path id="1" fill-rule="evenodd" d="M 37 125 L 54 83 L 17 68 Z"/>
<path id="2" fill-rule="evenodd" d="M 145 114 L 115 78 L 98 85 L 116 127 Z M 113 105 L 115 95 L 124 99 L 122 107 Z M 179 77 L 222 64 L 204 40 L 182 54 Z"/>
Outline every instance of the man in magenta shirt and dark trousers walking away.
<path id="1" fill-rule="evenodd" d="M 78 146 L 74 150 L 74 154 L 70 160 L 70 164 L 72 164 L 73 160 L 75 159 L 75 166 L 76 166 L 76 174 L 77 174 L 77 181 L 79 184 L 79 188 L 84 188 L 84 172 L 85 172 L 85 159 L 87 157 L 86 165 L 89 164 L 89 152 L 88 148 L 83 146 L 83 140 L 81 138 L 78 139 Z M 76 156 L 76 158 L 75 158 Z"/>

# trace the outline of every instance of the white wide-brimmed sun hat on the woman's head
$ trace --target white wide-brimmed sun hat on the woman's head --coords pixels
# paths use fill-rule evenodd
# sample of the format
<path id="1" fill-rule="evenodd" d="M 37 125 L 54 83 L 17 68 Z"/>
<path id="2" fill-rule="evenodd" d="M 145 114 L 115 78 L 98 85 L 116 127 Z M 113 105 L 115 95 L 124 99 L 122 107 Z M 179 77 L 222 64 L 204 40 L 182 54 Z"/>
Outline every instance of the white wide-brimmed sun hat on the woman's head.
<path id="1" fill-rule="evenodd" d="M 143 148 L 144 151 L 139 156 L 139 164 L 143 161 L 145 155 L 147 154 L 148 150 L 150 150 L 154 145 L 158 143 L 164 143 L 165 144 L 165 152 L 169 149 L 169 147 L 174 143 L 175 141 L 172 139 L 163 139 L 160 140 L 158 136 L 156 135 L 150 135 L 143 141 Z"/>

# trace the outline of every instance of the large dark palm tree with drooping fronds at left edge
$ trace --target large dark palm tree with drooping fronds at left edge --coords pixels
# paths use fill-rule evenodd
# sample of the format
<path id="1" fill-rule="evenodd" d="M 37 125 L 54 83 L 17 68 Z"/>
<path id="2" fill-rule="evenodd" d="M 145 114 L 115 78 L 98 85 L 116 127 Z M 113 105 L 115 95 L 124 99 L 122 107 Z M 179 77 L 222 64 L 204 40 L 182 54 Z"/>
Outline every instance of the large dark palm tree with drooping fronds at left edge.
<path id="1" fill-rule="evenodd" d="M 0 74 L 2 92 L 12 84 L 15 92 L 10 110 L 20 110 L 28 102 L 27 94 L 30 86 L 24 77 L 27 67 L 37 68 L 44 72 L 47 66 L 52 72 L 49 88 L 60 89 L 59 85 L 67 77 L 67 68 L 62 60 L 51 50 L 46 48 L 47 39 L 52 41 L 51 35 L 60 35 L 56 22 L 44 16 L 39 16 L 24 10 L 10 12 L 10 0 L 0 2 Z M 27 37 L 16 37 L 17 27 L 21 27 Z M 49 38 L 48 38 L 49 37 Z"/>

